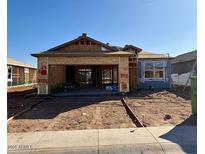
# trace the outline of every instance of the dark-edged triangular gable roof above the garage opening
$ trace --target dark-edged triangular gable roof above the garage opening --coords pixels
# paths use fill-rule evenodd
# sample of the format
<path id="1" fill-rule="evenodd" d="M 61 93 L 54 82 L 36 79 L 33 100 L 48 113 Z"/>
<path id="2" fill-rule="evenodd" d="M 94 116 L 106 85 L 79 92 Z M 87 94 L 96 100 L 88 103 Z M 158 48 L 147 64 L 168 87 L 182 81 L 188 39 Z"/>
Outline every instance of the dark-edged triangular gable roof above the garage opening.
<path id="1" fill-rule="evenodd" d="M 89 41 L 90 43 L 94 43 L 97 44 L 103 48 L 105 48 L 105 50 L 101 50 L 101 49 L 96 49 L 94 51 L 89 51 L 89 49 L 86 51 L 81 51 L 79 50 L 75 50 L 73 48 L 67 50 L 65 49 L 66 47 L 68 47 L 69 45 L 81 45 L 80 41 Z M 86 45 L 86 44 L 83 44 Z M 65 48 L 64 48 L 65 47 Z M 39 57 L 39 56 L 131 56 L 135 53 L 140 52 L 142 49 L 132 46 L 132 45 L 126 45 L 124 48 L 123 47 L 118 47 L 118 46 L 111 46 L 108 43 L 102 43 L 100 41 L 97 41 L 93 38 L 90 38 L 87 36 L 86 33 L 83 33 L 81 36 L 79 36 L 78 38 L 68 41 L 66 43 L 63 43 L 61 45 L 58 45 L 56 47 L 50 48 L 46 51 L 42 51 L 42 52 L 38 52 L 38 53 L 33 53 L 31 54 L 34 57 Z"/>

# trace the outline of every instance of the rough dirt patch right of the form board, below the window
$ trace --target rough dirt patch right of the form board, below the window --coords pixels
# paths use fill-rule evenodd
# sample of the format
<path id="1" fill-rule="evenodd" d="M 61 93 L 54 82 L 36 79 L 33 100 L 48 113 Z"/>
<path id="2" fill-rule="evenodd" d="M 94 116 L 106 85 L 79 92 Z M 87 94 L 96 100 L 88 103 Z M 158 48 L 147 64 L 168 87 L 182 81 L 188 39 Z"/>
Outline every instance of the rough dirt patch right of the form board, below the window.
<path id="1" fill-rule="evenodd" d="M 196 116 L 191 116 L 190 96 L 186 93 L 181 89 L 143 91 L 126 101 L 145 126 L 196 125 Z"/>

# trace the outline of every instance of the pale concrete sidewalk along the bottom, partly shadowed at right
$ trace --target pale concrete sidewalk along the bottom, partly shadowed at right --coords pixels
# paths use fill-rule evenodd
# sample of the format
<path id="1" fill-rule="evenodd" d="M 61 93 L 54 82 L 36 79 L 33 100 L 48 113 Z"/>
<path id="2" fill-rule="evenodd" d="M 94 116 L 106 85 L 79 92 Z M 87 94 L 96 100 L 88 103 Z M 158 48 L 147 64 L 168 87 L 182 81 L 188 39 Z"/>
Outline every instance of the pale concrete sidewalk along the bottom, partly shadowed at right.
<path id="1" fill-rule="evenodd" d="M 147 129 L 9 133 L 8 153 L 196 153 L 195 126 Z"/>

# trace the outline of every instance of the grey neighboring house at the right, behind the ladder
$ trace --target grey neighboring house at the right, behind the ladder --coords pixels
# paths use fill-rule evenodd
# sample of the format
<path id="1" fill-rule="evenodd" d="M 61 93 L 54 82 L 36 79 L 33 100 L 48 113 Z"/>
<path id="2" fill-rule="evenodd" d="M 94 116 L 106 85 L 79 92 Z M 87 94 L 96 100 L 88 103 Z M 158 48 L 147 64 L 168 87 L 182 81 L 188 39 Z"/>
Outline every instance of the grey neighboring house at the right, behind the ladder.
<path id="1" fill-rule="evenodd" d="M 192 71 L 193 76 L 197 75 L 197 50 L 181 54 L 171 60 L 172 83 L 175 85 L 186 85 Z M 195 67 L 194 67 L 195 64 Z M 188 82 L 190 85 L 190 81 Z"/>

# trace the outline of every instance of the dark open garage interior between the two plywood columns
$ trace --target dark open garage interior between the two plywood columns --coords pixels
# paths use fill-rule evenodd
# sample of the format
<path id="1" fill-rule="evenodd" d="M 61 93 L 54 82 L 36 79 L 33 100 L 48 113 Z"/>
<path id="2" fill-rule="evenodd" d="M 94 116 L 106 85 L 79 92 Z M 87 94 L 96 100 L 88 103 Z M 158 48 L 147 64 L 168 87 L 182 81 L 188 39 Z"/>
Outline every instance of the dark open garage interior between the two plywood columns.
<path id="1" fill-rule="evenodd" d="M 118 86 L 118 65 L 51 65 L 49 85 L 51 93 L 60 90 L 105 91 L 107 86 Z M 61 88 L 56 91 L 58 86 Z"/>

